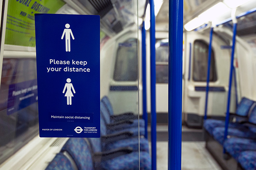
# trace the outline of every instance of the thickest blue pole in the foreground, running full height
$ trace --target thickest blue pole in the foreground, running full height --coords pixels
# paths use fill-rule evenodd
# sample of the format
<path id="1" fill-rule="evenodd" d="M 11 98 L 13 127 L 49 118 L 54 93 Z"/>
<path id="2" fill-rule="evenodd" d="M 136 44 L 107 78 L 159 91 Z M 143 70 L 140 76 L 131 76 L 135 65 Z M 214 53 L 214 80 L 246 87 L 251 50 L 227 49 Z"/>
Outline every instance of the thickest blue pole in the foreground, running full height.
<path id="1" fill-rule="evenodd" d="M 183 0 L 169 0 L 168 170 L 181 170 Z"/>

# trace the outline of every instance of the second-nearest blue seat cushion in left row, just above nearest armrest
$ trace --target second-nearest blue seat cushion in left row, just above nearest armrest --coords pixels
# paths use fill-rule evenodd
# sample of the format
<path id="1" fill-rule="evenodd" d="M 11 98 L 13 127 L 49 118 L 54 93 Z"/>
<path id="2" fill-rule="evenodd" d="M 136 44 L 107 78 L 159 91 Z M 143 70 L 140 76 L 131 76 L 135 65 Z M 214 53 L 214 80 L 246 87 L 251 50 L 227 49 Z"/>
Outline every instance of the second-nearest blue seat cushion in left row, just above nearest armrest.
<path id="1" fill-rule="evenodd" d="M 132 147 L 134 151 L 139 151 L 139 139 L 138 138 L 130 138 L 123 139 L 113 143 L 108 143 L 105 146 L 106 150 L 113 150 L 120 147 Z M 140 151 L 145 151 L 149 153 L 148 141 L 145 138 L 140 138 Z"/>

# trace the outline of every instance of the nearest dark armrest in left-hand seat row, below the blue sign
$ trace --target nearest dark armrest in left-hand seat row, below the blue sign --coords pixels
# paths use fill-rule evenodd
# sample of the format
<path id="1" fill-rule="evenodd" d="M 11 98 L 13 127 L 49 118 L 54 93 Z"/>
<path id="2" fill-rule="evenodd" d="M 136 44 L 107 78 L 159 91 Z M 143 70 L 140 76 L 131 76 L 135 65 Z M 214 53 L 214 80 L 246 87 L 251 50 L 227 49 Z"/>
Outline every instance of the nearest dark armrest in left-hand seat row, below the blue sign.
<path id="1" fill-rule="evenodd" d="M 131 153 L 133 151 L 132 147 L 121 147 L 121 148 L 116 148 L 113 150 L 108 150 L 105 152 L 96 152 L 93 155 L 93 160 L 94 162 L 101 162 L 101 161 L 106 161 L 109 159 L 116 158 L 118 156 L 122 156 L 128 153 Z"/>

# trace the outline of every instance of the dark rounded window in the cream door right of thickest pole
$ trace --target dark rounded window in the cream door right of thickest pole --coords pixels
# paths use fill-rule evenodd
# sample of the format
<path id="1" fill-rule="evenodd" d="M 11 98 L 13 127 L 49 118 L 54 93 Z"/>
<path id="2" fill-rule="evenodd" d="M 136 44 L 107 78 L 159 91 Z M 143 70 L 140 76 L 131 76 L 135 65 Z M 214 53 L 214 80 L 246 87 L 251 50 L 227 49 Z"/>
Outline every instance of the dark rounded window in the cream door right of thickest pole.
<path id="1" fill-rule="evenodd" d="M 209 45 L 202 40 L 194 42 L 194 59 L 193 59 L 193 80 L 196 82 L 205 82 L 207 80 L 207 65 L 208 65 L 208 48 Z M 215 69 L 215 57 L 212 50 L 211 65 L 210 65 L 210 82 L 217 80 Z"/>

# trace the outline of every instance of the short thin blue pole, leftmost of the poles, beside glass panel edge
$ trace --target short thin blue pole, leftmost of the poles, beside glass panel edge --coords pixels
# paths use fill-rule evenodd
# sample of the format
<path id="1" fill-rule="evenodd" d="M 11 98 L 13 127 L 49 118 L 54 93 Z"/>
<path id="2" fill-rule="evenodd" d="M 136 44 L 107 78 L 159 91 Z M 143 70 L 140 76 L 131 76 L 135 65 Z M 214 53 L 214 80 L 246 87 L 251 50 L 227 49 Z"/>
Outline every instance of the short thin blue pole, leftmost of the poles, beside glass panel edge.
<path id="1" fill-rule="evenodd" d="M 145 121 L 145 138 L 148 139 L 148 113 L 147 113 L 147 82 L 146 82 L 146 30 L 145 22 L 142 23 L 142 85 L 143 85 L 143 119 Z"/>

